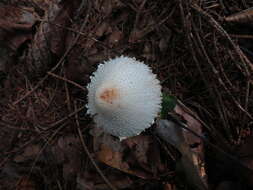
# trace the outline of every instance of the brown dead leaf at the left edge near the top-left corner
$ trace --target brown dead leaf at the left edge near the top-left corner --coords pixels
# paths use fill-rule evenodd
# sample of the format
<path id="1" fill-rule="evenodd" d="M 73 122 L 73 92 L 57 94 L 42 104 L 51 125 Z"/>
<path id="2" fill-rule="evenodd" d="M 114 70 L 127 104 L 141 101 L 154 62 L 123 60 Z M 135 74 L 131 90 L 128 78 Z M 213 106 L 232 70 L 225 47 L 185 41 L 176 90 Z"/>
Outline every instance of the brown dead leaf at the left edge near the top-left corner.
<path id="1" fill-rule="evenodd" d="M 32 8 L 0 6 L 0 72 L 8 73 L 18 48 L 32 39 L 37 17 Z"/>

